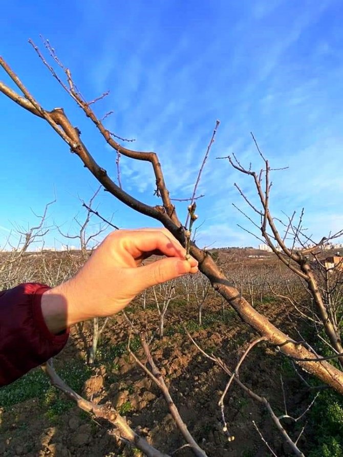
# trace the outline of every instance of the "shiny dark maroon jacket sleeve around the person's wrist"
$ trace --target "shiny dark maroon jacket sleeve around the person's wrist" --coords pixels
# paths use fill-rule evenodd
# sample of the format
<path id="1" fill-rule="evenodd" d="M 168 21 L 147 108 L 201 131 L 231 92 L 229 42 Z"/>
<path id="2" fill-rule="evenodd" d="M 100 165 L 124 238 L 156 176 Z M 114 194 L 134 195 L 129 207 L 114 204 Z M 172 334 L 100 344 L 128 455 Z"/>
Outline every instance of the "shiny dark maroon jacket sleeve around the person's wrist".
<path id="1" fill-rule="evenodd" d="M 68 340 L 69 330 L 53 335 L 43 318 L 40 300 L 48 289 L 28 282 L 0 292 L 0 386 L 58 354 Z"/>

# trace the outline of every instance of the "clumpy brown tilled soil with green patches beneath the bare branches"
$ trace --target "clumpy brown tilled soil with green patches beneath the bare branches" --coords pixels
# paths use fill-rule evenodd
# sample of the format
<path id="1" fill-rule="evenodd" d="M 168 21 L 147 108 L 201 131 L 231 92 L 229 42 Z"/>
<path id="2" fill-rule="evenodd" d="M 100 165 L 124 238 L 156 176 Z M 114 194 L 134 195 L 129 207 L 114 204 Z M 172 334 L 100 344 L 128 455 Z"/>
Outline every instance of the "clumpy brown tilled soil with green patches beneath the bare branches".
<path id="1" fill-rule="evenodd" d="M 260 303 L 259 307 L 264 308 L 274 322 L 287 326 L 285 310 L 279 303 Z M 140 304 L 133 304 L 128 313 L 140 330 L 147 330 L 152 335 L 158 327 L 153 305 L 143 311 Z M 153 357 L 165 376 L 183 420 L 207 455 L 271 455 L 252 421 L 278 457 L 291 455 L 265 409 L 244 395 L 234 383 L 225 400 L 225 416 L 234 440 L 227 440 L 218 400 L 228 375 L 200 354 L 185 334 L 180 316 L 197 343 L 209 354 L 213 352 L 219 356 L 231 369 L 237 364 L 247 342 L 256 335 L 228 308 L 223 313 L 215 299 L 206 304 L 200 327 L 196 307 L 187 307 L 179 300 L 170 304 L 167 311 L 165 337 L 162 340 L 156 337 L 151 344 Z M 97 403 L 110 401 L 126 416 L 131 426 L 159 450 L 171 454 L 183 446 L 181 433 L 160 391 L 127 353 L 126 320 L 122 316 L 111 319 L 102 335 L 97 361 L 92 368 L 84 363 L 84 345 L 90 344 L 90 333 L 86 334 L 87 337 L 82 338 L 74 329 L 68 346 L 56 358 L 55 367 L 61 377 L 85 398 Z M 144 361 L 137 338 L 133 347 Z M 309 395 L 285 358 L 270 346 L 262 343 L 255 347 L 241 368 L 240 379 L 256 393 L 268 398 L 275 411 L 282 414 L 281 373 L 288 411 L 296 415 L 307 407 Z M 0 393 L 0 405 L 3 405 L 0 408 L 0 455 L 4 457 L 142 455 L 120 441 L 108 423 L 92 419 L 66 401 L 49 385 L 40 369 L 0 390 Z M 299 432 L 302 426 L 303 423 L 286 424 L 291 434 Z M 304 450 L 310 434 L 311 427 L 308 426 L 298 442 Z M 173 455 L 185 457 L 193 454 L 186 447 Z"/>

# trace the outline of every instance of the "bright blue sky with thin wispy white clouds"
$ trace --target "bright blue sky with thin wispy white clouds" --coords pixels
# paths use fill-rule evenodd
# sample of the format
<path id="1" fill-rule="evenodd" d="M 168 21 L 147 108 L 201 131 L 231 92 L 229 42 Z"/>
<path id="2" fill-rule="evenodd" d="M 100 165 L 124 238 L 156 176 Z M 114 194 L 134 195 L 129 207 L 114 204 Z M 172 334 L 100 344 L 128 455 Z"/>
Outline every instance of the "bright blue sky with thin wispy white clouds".
<path id="1" fill-rule="evenodd" d="M 85 98 L 110 89 L 95 110 L 114 114 L 106 125 L 135 138 L 137 149 L 160 158 L 171 197 L 190 197 L 216 119 L 221 120 L 198 194 L 200 246 L 256 246 L 237 224 L 249 222 L 233 183 L 251 197 L 247 177 L 216 160 L 233 152 L 261 163 L 250 131 L 274 167 L 271 208 L 276 216 L 305 207 L 304 225 L 318 240 L 343 228 L 343 8 L 339 0 L 36 2 L 14 0 L 0 18 L 1 54 L 42 106 L 63 106 L 98 163 L 116 179 L 115 154 L 63 93 L 28 44 L 48 38 L 72 70 Z M 2 73 L 0 79 L 9 82 Z M 13 225 L 36 222 L 75 233 L 73 217 L 98 185 L 44 121 L 0 94 L 2 173 L 0 245 Z M 123 187 L 149 204 L 148 164 L 122 160 Z M 99 211 L 122 228 L 156 226 L 100 192 Z M 178 203 L 184 220 L 186 203 Z M 31 210 L 32 209 L 32 210 Z M 94 220 L 94 222 L 96 222 Z M 90 230 L 95 230 L 95 226 Z M 47 245 L 63 238 L 49 233 Z"/>

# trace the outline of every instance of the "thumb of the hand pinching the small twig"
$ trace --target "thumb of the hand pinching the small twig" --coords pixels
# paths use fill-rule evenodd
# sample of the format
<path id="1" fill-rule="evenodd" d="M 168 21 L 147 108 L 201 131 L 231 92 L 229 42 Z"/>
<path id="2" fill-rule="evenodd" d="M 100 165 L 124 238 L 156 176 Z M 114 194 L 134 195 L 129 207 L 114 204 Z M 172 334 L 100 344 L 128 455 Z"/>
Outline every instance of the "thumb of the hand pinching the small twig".
<path id="1" fill-rule="evenodd" d="M 149 265 L 135 269 L 136 281 L 141 290 L 169 281 L 186 273 L 195 272 L 188 260 L 167 257 Z"/>

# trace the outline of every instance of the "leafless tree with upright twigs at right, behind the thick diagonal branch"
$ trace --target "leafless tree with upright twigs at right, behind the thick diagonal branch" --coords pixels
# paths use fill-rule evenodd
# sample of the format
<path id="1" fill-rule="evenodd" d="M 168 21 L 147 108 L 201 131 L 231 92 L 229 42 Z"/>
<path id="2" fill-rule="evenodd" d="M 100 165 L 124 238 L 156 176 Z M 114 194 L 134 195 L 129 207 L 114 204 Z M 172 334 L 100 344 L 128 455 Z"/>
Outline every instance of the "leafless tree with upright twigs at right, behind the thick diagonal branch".
<path id="1" fill-rule="evenodd" d="M 258 221 L 255 222 L 245 212 L 240 211 L 246 215 L 256 229 L 261 231 L 262 237 L 277 258 L 280 259 L 280 261 L 294 274 L 305 281 L 315 306 L 315 315 L 317 320 L 320 322 L 321 327 L 324 328 L 328 342 L 331 344 L 334 353 L 339 355 L 337 358 L 340 365 L 343 366 L 343 346 L 341 343 L 339 327 L 337 325 L 337 315 L 335 313 L 335 309 L 332 306 L 330 307 L 330 303 L 325 302 L 328 294 L 321 293 L 316 274 L 312 268 L 313 262 L 310 262 L 310 256 L 312 256 L 316 260 L 317 264 L 323 268 L 323 265 L 320 264 L 318 258 L 320 247 L 324 242 L 333 240 L 334 238 L 342 235 L 343 230 L 335 233 L 334 235 L 329 235 L 329 237 L 323 237 L 321 241 L 314 243 L 311 237 L 305 234 L 303 226 L 304 210 L 299 216 L 297 222 L 295 221 L 295 212 L 291 217 L 288 217 L 286 222 L 283 222 L 280 219 L 275 219 L 270 212 L 269 204 L 270 189 L 272 186 L 270 181 L 270 171 L 272 169 L 269 165 L 269 161 L 265 159 L 261 153 L 254 137 L 253 140 L 264 163 L 264 167 L 259 173 L 252 171 L 250 167 L 243 167 L 235 156 L 228 157 L 228 160 L 234 169 L 252 178 L 260 201 L 259 207 L 255 206 L 250 200 L 248 200 L 241 188 L 235 184 L 235 187 L 237 187 L 252 213 L 257 214 Z M 280 223 L 282 230 L 284 231 L 283 235 L 281 235 L 280 229 L 276 225 L 277 221 Z M 259 238 L 257 235 L 255 236 Z M 291 240 L 291 247 L 287 246 L 289 240 Z M 312 243 L 312 246 L 310 246 L 310 243 Z M 325 266 L 324 273 L 326 274 Z"/>

